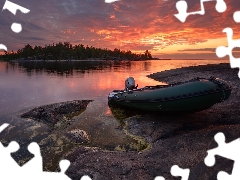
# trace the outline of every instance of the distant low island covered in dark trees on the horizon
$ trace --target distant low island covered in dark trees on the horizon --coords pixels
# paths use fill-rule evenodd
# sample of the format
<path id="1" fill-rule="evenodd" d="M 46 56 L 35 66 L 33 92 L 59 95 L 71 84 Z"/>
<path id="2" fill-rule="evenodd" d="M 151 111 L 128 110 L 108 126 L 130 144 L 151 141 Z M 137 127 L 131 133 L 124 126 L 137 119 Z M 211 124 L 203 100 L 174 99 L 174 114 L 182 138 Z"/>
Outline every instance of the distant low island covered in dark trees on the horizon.
<path id="1" fill-rule="evenodd" d="M 150 60 L 153 58 L 151 53 L 146 50 L 142 54 L 136 54 L 128 51 L 121 51 L 115 48 L 114 50 L 95 48 L 92 46 L 84 46 L 83 44 L 72 45 L 69 42 L 59 42 L 56 44 L 45 45 L 45 47 L 35 46 L 30 44 L 17 52 L 7 52 L 0 56 L 2 60 Z"/>

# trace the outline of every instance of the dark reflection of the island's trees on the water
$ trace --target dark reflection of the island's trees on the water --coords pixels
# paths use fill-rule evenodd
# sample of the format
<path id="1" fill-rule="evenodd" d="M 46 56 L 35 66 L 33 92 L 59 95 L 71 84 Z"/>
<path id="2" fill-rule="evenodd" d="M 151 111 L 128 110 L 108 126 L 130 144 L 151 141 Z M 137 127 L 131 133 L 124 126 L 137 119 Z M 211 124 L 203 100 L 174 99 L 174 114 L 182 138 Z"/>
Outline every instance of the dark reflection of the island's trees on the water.
<path id="1" fill-rule="evenodd" d="M 149 61 L 19 61 L 18 63 L 9 63 L 11 69 L 20 69 L 24 73 L 57 74 L 57 75 L 83 75 L 92 71 L 131 71 L 151 69 Z"/>

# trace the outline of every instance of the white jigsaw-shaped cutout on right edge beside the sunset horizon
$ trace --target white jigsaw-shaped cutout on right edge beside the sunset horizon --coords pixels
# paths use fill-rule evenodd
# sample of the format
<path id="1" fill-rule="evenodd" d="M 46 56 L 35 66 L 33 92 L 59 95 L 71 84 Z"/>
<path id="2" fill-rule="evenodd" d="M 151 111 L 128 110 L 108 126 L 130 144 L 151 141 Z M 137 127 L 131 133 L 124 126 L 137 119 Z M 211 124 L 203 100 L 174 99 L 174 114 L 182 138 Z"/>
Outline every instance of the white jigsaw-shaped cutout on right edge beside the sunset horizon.
<path id="1" fill-rule="evenodd" d="M 236 47 L 240 47 L 240 39 L 233 40 L 233 30 L 231 28 L 225 28 L 222 32 L 227 34 L 228 47 L 219 46 L 216 49 L 216 55 L 222 58 L 226 55 L 229 56 L 231 68 L 240 68 L 240 58 L 234 58 L 232 55 L 232 50 Z M 238 72 L 238 77 L 240 78 L 240 71 Z"/>

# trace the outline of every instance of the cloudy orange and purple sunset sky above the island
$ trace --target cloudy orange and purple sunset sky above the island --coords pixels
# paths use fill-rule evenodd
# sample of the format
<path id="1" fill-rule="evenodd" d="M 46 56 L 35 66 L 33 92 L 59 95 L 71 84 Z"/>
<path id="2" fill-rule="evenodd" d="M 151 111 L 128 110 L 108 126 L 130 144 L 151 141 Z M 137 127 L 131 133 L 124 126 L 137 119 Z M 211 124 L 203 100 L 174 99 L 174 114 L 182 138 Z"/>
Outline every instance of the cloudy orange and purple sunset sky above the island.
<path id="1" fill-rule="evenodd" d="M 240 23 L 233 13 L 240 11 L 239 0 L 225 0 L 227 10 L 219 13 L 216 1 L 205 2 L 205 15 L 188 16 L 185 23 L 177 14 L 178 0 L 12 0 L 30 10 L 14 15 L 8 10 L 0 14 L 0 44 L 17 51 L 26 44 L 33 47 L 70 42 L 100 48 L 149 50 L 154 57 L 171 59 L 218 59 L 215 49 L 227 46 L 226 33 L 231 27 L 234 39 L 240 38 Z M 187 0 L 188 12 L 199 11 L 200 0 Z M 3 7 L 5 0 L 0 0 Z M 13 22 L 22 31 L 11 30 Z M 240 49 L 240 48 L 239 48 Z M 240 50 L 233 55 L 240 57 Z M 0 50 L 3 53 L 3 50 Z M 227 59 L 226 57 L 225 59 Z"/>

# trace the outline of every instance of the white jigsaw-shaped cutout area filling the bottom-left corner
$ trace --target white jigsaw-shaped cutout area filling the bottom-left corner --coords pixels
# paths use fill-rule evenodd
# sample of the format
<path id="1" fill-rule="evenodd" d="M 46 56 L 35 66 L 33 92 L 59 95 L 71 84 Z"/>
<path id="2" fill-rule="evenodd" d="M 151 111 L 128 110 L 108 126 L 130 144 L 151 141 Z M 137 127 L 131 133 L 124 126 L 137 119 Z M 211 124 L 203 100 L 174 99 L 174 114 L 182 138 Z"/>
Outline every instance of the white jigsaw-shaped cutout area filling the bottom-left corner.
<path id="1" fill-rule="evenodd" d="M 0 132 L 6 129 L 9 124 L 5 123 L 0 126 Z M 62 160 L 59 163 L 61 171 L 58 172 L 43 172 L 42 156 L 40 147 L 37 143 L 32 142 L 28 146 L 28 151 L 34 155 L 29 162 L 22 167 L 11 157 L 11 153 L 19 150 L 19 144 L 15 141 L 9 143 L 7 147 L 4 147 L 0 142 L 0 177 L 4 179 L 58 179 L 58 180 L 70 180 L 65 174 L 66 170 L 70 166 L 68 160 Z M 81 180 L 91 180 L 89 176 L 83 176 Z"/>

